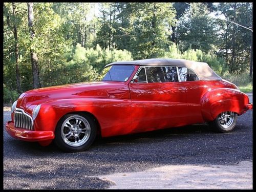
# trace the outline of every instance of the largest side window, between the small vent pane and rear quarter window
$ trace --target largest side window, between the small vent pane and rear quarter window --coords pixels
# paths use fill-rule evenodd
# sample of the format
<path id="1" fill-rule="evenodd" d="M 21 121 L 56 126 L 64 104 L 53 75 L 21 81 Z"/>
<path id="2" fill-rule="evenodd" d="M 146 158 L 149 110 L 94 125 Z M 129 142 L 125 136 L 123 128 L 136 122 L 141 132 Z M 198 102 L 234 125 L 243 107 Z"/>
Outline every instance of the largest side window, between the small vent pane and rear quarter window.
<path id="1" fill-rule="evenodd" d="M 146 67 L 147 82 L 178 82 L 176 67 Z"/>

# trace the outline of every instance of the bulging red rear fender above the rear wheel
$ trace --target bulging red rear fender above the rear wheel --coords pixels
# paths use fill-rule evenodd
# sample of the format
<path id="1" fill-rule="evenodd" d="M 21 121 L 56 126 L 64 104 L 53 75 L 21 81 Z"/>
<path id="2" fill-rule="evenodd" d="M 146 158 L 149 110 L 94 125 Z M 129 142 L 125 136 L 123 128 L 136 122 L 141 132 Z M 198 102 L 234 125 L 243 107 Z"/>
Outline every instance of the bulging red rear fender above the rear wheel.
<path id="1" fill-rule="evenodd" d="M 208 91 L 200 100 L 201 113 L 205 121 L 212 121 L 225 111 L 241 115 L 248 110 L 248 103 L 249 98 L 245 93 L 229 88 Z"/>

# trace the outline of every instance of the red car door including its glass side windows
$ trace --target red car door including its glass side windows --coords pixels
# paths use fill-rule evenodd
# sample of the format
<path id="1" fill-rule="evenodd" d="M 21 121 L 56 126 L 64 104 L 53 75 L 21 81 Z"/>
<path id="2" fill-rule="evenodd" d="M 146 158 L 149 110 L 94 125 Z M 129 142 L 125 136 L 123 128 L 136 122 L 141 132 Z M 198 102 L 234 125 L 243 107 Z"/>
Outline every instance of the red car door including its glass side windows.
<path id="1" fill-rule="evenodd" d="M 186 124 L 186 93 L 177 67 L 141 67 L 137 77 L 129 84 L 134 132 Z"/>

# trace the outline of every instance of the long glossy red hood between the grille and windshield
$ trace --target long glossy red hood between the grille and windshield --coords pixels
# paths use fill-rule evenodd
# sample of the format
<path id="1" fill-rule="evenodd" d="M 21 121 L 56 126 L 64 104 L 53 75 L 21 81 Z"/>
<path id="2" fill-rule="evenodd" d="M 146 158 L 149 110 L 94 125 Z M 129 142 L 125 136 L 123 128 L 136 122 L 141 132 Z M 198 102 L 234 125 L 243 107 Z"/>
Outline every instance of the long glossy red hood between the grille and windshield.
<path id="1" fill-rule="evenodd" d="M 75 99 L 75 98 L 95 98 L 111 97 L 109 92 L 116 90 L 129 91 L 123 82 L 99 81 L 66 84 L 30 90 L 19 96 L 16 107 L 27 110 L 31 105 L 42 104 L 50 100 Z M 123 95 L 120 97 L 127 97 Z"/>

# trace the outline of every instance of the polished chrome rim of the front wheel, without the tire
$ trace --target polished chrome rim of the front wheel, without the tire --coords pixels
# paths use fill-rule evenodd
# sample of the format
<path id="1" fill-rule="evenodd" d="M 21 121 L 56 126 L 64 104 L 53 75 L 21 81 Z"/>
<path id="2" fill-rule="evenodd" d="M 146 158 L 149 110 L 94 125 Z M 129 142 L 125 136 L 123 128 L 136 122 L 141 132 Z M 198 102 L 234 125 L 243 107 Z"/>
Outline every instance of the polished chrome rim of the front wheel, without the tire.
<path id="1" fill-rule="evenodd" d="M 86 143 L 91 134 L 88 120 L 80 115 L 68 117 L 61 125 L 61 138 L 70 146 L 81 146 Z"/>

